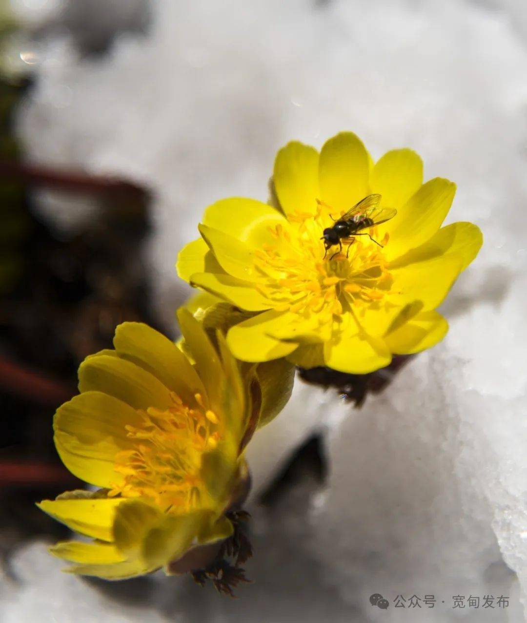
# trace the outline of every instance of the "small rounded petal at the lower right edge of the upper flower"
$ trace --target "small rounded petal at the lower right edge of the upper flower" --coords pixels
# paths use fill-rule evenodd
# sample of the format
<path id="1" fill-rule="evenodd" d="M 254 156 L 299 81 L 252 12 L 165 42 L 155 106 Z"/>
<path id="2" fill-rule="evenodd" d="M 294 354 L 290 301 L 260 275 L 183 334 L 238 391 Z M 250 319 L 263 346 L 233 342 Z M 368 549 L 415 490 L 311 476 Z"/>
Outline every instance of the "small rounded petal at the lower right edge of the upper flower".
<path id="1" fill-rule="evenodd" d="M 449 325 L 440 313 L 431 311 L 418 314 L 411 321 L 384 339 L 392 353 L 419 353 L 425 348 L 441 341 L 449 330 Z"/>

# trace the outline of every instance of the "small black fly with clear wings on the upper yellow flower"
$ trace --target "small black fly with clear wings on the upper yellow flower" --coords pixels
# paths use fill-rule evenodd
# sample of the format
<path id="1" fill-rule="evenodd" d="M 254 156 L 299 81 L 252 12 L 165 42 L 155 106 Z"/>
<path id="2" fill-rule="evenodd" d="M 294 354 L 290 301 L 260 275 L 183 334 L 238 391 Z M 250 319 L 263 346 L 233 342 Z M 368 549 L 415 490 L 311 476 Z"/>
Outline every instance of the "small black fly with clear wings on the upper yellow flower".
<path id="1" fill-rule="evenodd" d="M 326 206 L 326 204 L 319 199 L 316 201 L 318 204 Z M 346 252 L 346 257 L 348 257 L 349 247 L 353 244 L 355 240 L 354 237 L 356 235 L 367 235 L 370 240 L 373 240 L 375 244 L 382 247 L 382 244 L 372 238 L 369 232 L 362 231 L 363 229 L 368 229 L 369 227 L 380 225 L 381 223 L 389 221 L 397 214 L 397 210 L 394 208 L 379 207 L 380 201 L 380 194 L 371 194 L 364 197 L 364 199 L 361 199 L 361 201 L 356 203 L 339 219 L 333 219 L 333 217 L 331 217 L 331 219 L 335 221 L 335 225 L 332 227 L 326 227 L 323 232 L 323 236 L 321 237 L 321 240 L 324 240 L 324 245 L 326 247 L 324 258 L 328 254 L 328 250 L 337 244 L 340 248 L 336 253 L 331 255 L 330 260 L 332 260 L 338 253 L 341 253 L 343 242 L 344 244 L 348 244 L 348 251 Z"/>

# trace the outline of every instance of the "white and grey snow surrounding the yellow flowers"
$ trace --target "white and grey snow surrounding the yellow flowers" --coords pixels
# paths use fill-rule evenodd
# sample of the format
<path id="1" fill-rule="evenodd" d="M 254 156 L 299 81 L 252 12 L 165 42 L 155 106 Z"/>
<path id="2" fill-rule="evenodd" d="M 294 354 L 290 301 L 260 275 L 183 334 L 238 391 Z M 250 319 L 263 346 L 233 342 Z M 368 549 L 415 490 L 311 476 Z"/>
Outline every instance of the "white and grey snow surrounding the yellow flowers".
<path id="1" fill-rule="evenodd" d="M 411 146 L 425 178 L 458 184 L 449 222 L 476 222 L 485 245 L 444 305 L 445 341 L 384 394 L 353 411 L 298 383 L 255 437 L 254 501 L 313 430 L 329 472 L 324 485 L 301 479 L 272 508 L 252 503 L 255 583 L 240 599 L 188 578 L 72 578 L 32 543 L 0 584 L 0 620 L 524 621 L 525 0 L 83 0 L 80 17 L 66 0 L 12 5 L 38 34 L 19 44 L 37 58 L 19 117 L 29 158 L 153 189 L 148 262 L 166 326 L 188 294 L 174 261 L 203 208 L 225 196 L 265 200 L 275 152 L 293 138 L 321 146 L 349 129 L 374 158 Z M 85 54 L 101 41 L 107 54 Z M 97 217 L 70 205 L 40 196 L 60 235 Z M 374 592 L 387 611 L 369 604 Z M 397 594 L 438 602 L 394 609 Z M 469 594 L 508 596 L 510 606 L 452 609 L 452 596 Z"/>

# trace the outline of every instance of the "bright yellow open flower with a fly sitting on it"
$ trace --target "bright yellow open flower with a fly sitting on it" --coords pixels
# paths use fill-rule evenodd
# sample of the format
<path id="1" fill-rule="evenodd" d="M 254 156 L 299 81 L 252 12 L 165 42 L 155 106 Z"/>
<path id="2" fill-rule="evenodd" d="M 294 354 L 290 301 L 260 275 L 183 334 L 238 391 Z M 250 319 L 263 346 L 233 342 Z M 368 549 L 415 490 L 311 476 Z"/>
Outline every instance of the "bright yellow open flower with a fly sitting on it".
<path id="1" fill-rule="evenodd" d="M 423 184 L 408 149 L 374 164 L 356 135 L 340 133 L 320 154 L 297 142 L 278 151 L 273 190 L 277 207 L 244 198 L 209 206 L 201 239 L 178 257 L 180 277 L 248 313 L 227 333 L 237 358 L 368 373 L 444 337 L 435 308 L 482 245 L 472 223 L 441 228 L 452 182 Z M 324 229 L 371 193 L 396 216 L 363 230 L 374 240 L 361 235 L 325 257 Z"/>

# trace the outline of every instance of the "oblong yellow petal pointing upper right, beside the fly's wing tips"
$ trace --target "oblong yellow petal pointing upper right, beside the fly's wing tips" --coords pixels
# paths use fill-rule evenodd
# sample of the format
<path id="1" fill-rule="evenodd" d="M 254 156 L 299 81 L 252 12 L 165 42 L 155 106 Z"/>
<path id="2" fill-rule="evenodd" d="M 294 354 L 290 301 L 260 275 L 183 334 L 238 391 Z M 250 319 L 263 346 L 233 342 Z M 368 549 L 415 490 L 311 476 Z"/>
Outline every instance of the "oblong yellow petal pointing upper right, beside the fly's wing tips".
<path id="1" fill-rule="evenodd" d="M 454 195 L 455 184 L 448 179 L 434 178 L 423 184 L 382 226 L 390 235 L 384 247 L 387 259 L 399 257 L 429 240 L 445 220 Z"/>

